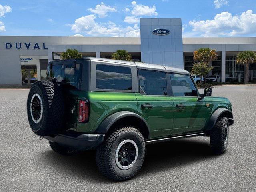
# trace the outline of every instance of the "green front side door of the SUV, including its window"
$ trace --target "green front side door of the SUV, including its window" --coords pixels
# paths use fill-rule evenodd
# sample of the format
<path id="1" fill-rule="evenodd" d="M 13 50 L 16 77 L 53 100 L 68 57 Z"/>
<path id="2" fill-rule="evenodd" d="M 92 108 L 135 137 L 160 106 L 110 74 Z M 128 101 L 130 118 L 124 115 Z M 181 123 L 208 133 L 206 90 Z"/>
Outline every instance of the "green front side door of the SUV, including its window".
<path id="1" fill-rule="evenodd" d="M 174 103 L 174 127 L 172 135 L 198 132 L 204 128 L 207 112 L 204 100 L 190 75 L 170 74 Z"/>

